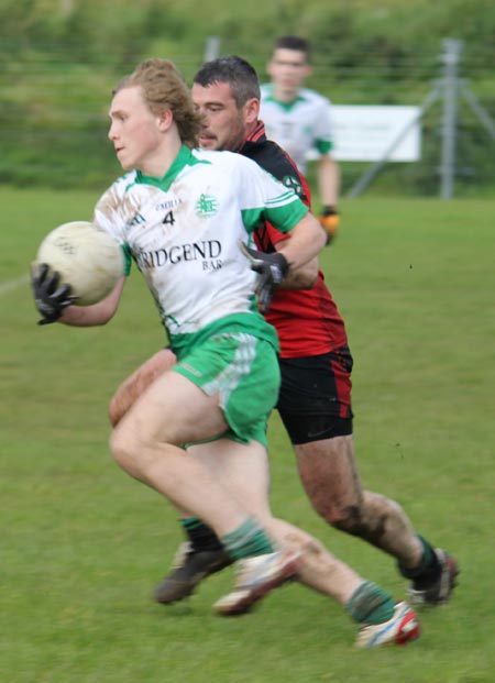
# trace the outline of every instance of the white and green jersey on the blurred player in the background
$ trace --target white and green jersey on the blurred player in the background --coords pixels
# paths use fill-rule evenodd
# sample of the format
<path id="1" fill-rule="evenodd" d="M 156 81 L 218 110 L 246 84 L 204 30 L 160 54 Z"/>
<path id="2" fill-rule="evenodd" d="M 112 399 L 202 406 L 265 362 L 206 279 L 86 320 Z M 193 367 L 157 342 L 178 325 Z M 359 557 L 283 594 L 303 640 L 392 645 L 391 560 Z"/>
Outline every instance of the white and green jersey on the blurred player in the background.
<path id="1" fill-rule="evenodd" d="M 265 124 L 266 136 L 277 142 L 306 173 L 310 152 L 328 154 L 333 145 L 330 123 L 330 101 L 308 88 L 301 88 L 290 103 L 273 97 L 273 85 L 261 87 L 260 118 Z"/>

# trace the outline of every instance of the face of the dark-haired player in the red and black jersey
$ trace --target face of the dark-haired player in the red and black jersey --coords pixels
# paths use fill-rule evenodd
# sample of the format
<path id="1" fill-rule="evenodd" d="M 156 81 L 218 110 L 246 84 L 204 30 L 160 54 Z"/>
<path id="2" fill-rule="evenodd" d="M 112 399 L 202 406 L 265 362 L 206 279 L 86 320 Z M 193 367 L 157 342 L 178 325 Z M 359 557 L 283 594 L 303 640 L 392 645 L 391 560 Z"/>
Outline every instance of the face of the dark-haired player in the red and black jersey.
<path id="1" fill-rule="evenodd" d="M 249 100 L 238 109 L 227 82 L 216 82 L 206 88 L 195 82 L 191 95 L 202 117 L 199 146 L 204 150 L 239 150 L 249 133 L 250 123 L 257 117 L 257 100 Z"/>

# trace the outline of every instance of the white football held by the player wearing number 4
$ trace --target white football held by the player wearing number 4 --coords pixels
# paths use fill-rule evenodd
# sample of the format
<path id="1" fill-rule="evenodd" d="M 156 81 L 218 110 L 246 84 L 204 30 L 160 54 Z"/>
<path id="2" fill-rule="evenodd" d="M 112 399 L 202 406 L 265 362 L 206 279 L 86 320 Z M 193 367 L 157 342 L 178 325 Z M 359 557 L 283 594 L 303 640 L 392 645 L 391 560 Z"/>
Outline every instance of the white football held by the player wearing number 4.
<path id="1" fill-rule="evenodd" d="M 46 263 L 70 285 L 77 306 L 105 299 L 124 272 L 121 246 L 110 234 L 86 221 L 64 223 L 40 245 L 35 263 Z"/>

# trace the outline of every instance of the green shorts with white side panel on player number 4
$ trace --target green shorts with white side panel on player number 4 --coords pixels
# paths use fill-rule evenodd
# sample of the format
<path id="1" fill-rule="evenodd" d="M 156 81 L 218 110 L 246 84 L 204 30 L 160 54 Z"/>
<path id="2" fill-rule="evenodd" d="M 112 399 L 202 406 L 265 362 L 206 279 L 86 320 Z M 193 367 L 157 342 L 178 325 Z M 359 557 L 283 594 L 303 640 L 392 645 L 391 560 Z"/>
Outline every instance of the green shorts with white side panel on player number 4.
<path id="1" fill-rule="evenodd" d="M 205 394 L 218 394 L 232 433 L 241 443 L 266 444 L 280 373 L 274 346 L 245 332 L 221 332 L 195 346 L 173 367 Z"/>

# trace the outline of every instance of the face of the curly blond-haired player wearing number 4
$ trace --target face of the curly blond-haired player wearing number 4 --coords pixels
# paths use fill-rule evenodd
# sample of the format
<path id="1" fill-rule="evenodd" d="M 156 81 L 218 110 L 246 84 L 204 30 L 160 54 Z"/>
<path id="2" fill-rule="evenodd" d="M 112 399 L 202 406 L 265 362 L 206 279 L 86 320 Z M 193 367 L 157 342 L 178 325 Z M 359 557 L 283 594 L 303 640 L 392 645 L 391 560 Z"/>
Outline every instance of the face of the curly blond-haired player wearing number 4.
<path id="1" fill-rule="evenodd" d="M 108 136 L 122 168 L 139 168 L 147 173 L 162 142 L 161 119 L 147 108 L 141 87 L 119 90 L 113 97 L 109 115 L 111 124 Z"/>

